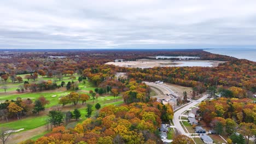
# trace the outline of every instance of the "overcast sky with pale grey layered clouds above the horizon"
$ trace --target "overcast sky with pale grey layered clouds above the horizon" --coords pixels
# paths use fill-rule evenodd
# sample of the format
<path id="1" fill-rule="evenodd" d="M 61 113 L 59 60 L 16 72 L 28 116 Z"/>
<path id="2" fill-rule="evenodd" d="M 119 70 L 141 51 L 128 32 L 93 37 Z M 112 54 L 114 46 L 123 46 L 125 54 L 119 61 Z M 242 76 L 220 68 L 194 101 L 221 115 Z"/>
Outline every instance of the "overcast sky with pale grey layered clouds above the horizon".
<path id="1" fill-rule="evenodd" d="M 1 49 L 256 47 L 256 1 L 0 1 Z"/>

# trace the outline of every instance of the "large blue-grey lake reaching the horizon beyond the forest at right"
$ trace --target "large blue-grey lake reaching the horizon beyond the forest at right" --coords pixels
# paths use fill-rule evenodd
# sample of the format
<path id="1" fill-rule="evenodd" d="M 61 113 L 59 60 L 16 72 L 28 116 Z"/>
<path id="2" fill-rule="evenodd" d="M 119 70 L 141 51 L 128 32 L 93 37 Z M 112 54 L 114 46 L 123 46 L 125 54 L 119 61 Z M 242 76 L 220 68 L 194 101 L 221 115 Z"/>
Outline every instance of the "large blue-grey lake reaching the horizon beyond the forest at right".
<path id="1" fill-rule="evenodd" d="M 204 51 L 256 62 L 256 49 L 210 49 Z"/>

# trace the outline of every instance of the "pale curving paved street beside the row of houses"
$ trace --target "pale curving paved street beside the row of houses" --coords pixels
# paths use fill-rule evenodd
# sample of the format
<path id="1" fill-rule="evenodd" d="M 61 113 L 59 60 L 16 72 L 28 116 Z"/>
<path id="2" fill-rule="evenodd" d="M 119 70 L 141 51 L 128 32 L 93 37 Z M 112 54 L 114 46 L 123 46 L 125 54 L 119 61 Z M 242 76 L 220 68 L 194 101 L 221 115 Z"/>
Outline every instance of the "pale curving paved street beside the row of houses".
<path id="1" fill-rule="evenodd" d="M 194 105 L 197 105 L 197 104 L 201 103 L 201 101 L 205 100 L 206 98 L 207 98 L 207 95 L 204 95 L 202 98 L 200 98 L 198 100 L 193 100 L 192 103 L 188 104 L 187 106 L 182 107 L 181 109 L 179 109 L 178 111 L 176 111 L 174 113 L 172 121 L 173 121 L 174 127 L 179 131 L 179 133 L 181 133 L 182 135 L 189 136 L 189 134 L 186 133 L 184 131 L 184 129 L 182 128 L 181 123 L 179 123 L 179 116 L 181 116 L 184 111 L 188 110 L 190 107 L 193 107 Z"/>

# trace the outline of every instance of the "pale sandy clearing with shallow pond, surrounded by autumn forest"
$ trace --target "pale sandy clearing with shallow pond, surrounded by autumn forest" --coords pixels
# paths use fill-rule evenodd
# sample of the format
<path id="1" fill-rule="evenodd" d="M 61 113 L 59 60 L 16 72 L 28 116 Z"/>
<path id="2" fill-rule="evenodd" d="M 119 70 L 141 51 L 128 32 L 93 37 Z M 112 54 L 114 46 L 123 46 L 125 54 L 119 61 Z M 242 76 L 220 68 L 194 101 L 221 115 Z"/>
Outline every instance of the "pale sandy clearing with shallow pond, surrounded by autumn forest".
<path id="1" fill-rule="evenodd" d="M 106 64 L 114 64 L 119 67 L 128 68 L 153 68 L 153 67 L 217 67 L 222 61 L 170 61 L 170 60 L 153 60 L 153 59 L 138 59 L 137 61 L 125 62 L 108 62 Z"/>

